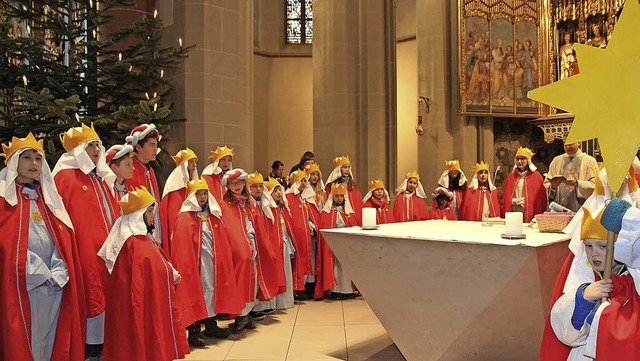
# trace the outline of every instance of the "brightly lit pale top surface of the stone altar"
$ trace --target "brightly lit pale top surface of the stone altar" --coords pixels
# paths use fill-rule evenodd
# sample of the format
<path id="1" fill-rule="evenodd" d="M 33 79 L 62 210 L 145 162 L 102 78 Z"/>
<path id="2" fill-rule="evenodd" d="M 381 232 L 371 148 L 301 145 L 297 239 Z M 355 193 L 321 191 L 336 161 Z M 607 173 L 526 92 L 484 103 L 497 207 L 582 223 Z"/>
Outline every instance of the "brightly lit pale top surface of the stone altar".
<path id="1" fill-rule="evenodd" d="M 401 238 L 416 241 L 438 241 L 470 244 L 495 244 L 504 246 L 542 247 L 567 241 L 570 237 L 564 233 L 540 233 L 525 223 L 525 239 L 503 239 L 504 224 L 483 225 L 484 222 L 468 221 L 418 221 L 406 223 L 381 224 L 378 229 L 364 230 L 360 227 L 323 229 L 323 233 L 369 236 L 381 238 Z"/>

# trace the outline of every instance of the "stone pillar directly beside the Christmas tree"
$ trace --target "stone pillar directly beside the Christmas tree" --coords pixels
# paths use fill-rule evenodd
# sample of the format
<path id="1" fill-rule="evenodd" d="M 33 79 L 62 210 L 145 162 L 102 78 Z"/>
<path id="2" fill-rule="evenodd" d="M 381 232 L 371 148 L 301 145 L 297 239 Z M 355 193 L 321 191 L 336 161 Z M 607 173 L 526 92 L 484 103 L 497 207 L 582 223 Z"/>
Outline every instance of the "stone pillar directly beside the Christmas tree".
<path id="1" fill-rule="evenodd" d="M 173 116 L 187 122 L 174 126 L 168 147 L 188 145 L 202 169 L 211 150 L 227 145 L 235 149 L 234 166 L 251 171 L 253 1 L 174 0 L 173 16 L 167 36 L 194 47 L 176 75 L 173 99 Z"/>

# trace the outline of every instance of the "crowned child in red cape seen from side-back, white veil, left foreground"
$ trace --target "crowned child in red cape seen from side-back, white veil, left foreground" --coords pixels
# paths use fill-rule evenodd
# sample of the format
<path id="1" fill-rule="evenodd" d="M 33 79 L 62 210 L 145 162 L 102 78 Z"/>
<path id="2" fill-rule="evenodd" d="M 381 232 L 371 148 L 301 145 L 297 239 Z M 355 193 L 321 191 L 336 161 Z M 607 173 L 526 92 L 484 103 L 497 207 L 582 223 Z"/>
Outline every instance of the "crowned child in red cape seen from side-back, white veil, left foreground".
<path id="1" fill-rule="evenodd" d="M 189 345 L 175 293 L 181 276 L 153 240 L 155 199 L 142 186 L 119 204 L 122 216 L 98 252 L 110 273 L 103 359 L 184 358 Z"/>

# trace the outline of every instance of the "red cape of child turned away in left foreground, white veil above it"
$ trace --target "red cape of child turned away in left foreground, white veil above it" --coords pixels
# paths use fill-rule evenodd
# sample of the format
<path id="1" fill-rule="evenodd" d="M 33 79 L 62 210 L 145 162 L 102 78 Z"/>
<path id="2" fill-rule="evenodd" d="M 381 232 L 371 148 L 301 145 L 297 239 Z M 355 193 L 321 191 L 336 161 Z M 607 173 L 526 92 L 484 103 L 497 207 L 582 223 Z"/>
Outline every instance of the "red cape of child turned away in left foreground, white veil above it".
<path id="1" fill-rule="evenodd" d="M 104 360 L 173 360 L 189 353 L 173 272 L 147 236 L 129 237 L 107 289 Z"/>

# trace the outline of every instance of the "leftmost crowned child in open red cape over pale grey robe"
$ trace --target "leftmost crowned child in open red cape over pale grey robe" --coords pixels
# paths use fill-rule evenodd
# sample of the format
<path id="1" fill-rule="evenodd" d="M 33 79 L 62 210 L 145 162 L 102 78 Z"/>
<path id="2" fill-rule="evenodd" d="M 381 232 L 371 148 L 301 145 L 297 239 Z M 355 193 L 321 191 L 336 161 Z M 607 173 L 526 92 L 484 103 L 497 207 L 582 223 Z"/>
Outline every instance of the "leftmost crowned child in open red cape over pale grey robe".
<path id="1" fill-rule="evenodd" d="M 2 145 L 0 359 L 85 359 L 84 286 L 73 226 L 33 134 Z"/>

